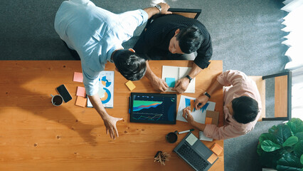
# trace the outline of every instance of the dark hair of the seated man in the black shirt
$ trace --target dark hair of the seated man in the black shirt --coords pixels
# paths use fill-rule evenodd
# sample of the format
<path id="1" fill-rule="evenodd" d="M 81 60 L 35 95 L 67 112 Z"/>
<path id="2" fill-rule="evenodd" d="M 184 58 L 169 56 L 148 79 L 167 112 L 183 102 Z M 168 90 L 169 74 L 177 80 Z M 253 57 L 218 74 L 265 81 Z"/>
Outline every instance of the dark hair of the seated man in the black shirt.
<path id="1" fill-rule="evenodd" d="M 198 27 L 189 26 L 181 29 L 181 31 L 176 35 L 176 40 L 179 41 L 179 46 L 182 52 L 192 53 L 200 48 L 203 36 Z"/>

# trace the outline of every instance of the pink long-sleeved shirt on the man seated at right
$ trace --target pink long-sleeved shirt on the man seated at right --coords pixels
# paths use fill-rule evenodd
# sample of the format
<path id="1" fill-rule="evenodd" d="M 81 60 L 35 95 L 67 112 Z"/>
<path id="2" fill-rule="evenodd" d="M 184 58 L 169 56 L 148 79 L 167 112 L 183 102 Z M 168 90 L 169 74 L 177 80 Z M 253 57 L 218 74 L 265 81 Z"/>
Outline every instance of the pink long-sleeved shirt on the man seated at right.
<path id="1" fill-rule="evenodd" d="M 225 71 L 218 76 L 217 81 L 223 85 L 223 111 L 224 111 L 224 121 L 225 125 L 222 127 L 217 127 L 216 125 L 206 125 L 204 129 L 204 135 L 209 138 L 214 138 L 216 140 L 225 140 L 228 138 L 235 138 L 240 135 L 245 135 L 249 133 L 257 123 L 257 118 L 261 115 L 261 98 L 260 93 L 257 90 L 257 86 L 252 79 L 248 78 L 245 73 L 235 70 Z M 254 121 L 250 123 L 238 123 L 230 115 L 228 105 L 234 98 L 246 95 L 250 98 L 257 100 L 260 112 Z"/>

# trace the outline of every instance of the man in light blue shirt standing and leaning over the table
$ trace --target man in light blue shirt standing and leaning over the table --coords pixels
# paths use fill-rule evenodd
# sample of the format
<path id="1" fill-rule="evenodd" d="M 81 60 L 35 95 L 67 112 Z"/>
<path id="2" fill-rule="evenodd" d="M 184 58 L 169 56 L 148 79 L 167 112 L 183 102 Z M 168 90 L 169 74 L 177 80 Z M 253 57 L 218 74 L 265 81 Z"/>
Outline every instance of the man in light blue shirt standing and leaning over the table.
<path id="1" fill-rule="evenodd" d="M 119 136 L 116 123 L 122 118 L 112 117 L 103 107 L 97 93 L 99 74 L 110 61 L 127 80 L 141 79 L 146 72 L 147 61 L 133 49 L 124 50 L 122 43 L 133 36 L 137 26 L 154 14 L 171 14 L 168 9 L 168 4 L 160 3 L 143 10 L 113 14 L 89 0 L 70 0 L 63 1 L 55 15 L 55 31 L 80 56 L 87 96 L 103 119 L 107 134 L 110 133 L 113 139 Z"/>

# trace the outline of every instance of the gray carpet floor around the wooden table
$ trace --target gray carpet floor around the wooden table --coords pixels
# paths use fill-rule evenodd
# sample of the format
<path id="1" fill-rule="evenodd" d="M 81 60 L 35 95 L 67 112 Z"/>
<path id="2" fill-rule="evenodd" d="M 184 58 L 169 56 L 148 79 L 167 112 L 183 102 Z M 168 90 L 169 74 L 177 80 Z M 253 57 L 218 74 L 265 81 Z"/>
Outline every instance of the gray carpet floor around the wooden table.
<path id="1" fill-rule="evenodd" d="M 97 6 L 120 13 L 150 6 L 151 1 L 92 0 Z M 0 60 L 73 60 L 55 33 L 53 21 L 60 0 L 1 1 Z M 202 9 L 201 21 L 213 43 L 213 60 L 223 60 L 223 69 L 236 69 L 249 76 L 265 76 L 284 71 L 285 33 L 280 29 L 280 0 L 169 0 L 174 8 Z M 139 36 L 144 26 L 137 28 Z M 124 43 L 132 47 L 136 37 Z M 271 84 L 272 85 L 272 84 Z M 268 90 L 271 90 L 269 88 Z M 274 103 L 268 103 L 272 115 Z M 271 105 L 270 105 L 271 104 Z M 239 138 L 225 140 L 225 170 L 261 170 L 257 158 L 257 138 L 281 122 L 263 121 L 255 130 Z"/>

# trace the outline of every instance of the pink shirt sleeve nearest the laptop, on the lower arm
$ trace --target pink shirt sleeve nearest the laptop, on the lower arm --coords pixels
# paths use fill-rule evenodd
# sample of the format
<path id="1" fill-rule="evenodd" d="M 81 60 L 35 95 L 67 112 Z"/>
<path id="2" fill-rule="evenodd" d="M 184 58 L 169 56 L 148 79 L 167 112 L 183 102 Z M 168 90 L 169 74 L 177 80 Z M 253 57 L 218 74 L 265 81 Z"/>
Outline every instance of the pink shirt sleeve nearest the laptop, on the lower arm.
<path id="1" fill-rule="evenodd" d="M 245 135 L 241 130 L 238 130 L 233 125 L 224 125 L 222 127 L 217 127 L 216 125 L 206 125 L 203 134 L 208 138 L 213 138 L 216 140 L 225 140 L 228 138 L 235 138 L 240 135 Z"/>

